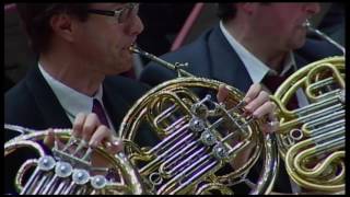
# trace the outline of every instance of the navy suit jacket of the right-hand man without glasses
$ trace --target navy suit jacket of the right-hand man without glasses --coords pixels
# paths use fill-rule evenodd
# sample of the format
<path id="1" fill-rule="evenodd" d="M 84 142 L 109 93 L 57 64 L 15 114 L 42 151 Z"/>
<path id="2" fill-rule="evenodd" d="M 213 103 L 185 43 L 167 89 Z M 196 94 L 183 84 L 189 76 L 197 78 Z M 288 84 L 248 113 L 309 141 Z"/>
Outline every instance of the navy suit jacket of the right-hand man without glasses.
<path id="1" fill-rule="evenodd" d="M 314 39 L 307 39 L 304 47 L 294 51 L 298 68 L 335 55 L 342 54 L 338 48 L 327 42 Z M 206 31 L 191 44 L 174 53 L 161 56 L 161 59 L 171 63 L 188 62 L 189 67 L 185 68 L 188 72 L 197 77 L 222 81 L 243 92 L 247 92 L 253 84 L 243 61 L 231 47 L 219 25 Z M 161 67 L 156 62 L 150 62 L 141 73 L 140 80 L 153 86 L 175 77 L 174 71 Z M 258 167 L 255 170 L 259 171 Z M 290 193 L 291 188 L 288 182 L 284 165 L 280 165 L 279 178 L 276 183 L 275 192 Z M 238 192 L 243 189 L 246 188 L 238 187 Z"/>

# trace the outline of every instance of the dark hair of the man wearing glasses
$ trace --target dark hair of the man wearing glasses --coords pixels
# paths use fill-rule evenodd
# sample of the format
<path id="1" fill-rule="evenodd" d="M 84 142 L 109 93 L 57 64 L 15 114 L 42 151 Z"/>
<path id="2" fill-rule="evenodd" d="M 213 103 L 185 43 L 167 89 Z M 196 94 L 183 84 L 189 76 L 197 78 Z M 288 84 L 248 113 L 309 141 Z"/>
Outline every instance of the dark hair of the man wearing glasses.
<path id="1" fill-rule="evenodd" d="M 89 3 L 16 3 L 31 48 L 39 54 L 47 50 L 51 37 L 50 19 L 67 13 L 80 21 L 88 20 Z"/>

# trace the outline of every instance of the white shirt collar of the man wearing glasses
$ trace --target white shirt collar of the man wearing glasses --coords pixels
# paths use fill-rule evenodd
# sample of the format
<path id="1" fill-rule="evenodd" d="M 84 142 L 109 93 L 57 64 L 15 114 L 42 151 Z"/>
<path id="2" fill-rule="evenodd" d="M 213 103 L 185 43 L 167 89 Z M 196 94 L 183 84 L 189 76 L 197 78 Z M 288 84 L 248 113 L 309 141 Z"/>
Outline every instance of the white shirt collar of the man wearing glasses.
<path id="1" fill-rule="evenodd" d="M 93 107 L 93 99 L 97 99 L 101 103 L 103 96 L 103 88 L 102 84 L 100 85 L 97 92 L 93 97 L 90 97 L 85 94 L 82 94 L 66 84 L 61 83 L 60 81 L 54 79 L 45 69 L 38 63 L 39 70 L 43 73 L 45 80 L 52 89 L 56 97 L 58 99 L 59 103 L 65 108 L 68 117 L 73 123 L 78 113 L 89 114 L 92 112 Z"/>

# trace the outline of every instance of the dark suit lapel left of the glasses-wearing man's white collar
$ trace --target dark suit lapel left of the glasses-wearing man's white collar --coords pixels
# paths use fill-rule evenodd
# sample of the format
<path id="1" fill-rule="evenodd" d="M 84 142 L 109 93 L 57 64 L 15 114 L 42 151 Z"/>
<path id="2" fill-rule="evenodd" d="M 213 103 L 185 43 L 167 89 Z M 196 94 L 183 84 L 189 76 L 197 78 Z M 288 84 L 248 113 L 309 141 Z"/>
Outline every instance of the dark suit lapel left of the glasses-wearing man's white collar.
<path id="1" fill-rule="evenodd" d="M 44 118 L 44 128 L 71 128 L 72 124 L 66 115 L 55 93 L 47 84 L 38 67 L 35 67 L 27 77 L 26 85 L 33 93 L 35 104 Z"/>

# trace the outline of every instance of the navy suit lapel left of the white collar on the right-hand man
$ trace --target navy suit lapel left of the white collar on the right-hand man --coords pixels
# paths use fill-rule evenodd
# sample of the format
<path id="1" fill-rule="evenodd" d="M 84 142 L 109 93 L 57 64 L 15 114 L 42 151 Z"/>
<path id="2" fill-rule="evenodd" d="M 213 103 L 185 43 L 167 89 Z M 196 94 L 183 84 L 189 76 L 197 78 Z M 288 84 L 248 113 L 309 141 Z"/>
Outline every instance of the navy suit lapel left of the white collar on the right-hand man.
<path id="1" fill-rule="evenodd" d="M 246 92 L 253 83 L 252 79 L 219 26 L 213 28 L 208 44 L 211 60 L 211 77 Z"/>

